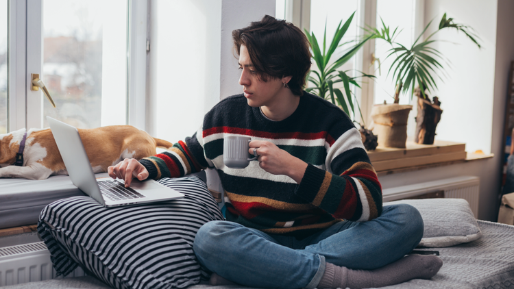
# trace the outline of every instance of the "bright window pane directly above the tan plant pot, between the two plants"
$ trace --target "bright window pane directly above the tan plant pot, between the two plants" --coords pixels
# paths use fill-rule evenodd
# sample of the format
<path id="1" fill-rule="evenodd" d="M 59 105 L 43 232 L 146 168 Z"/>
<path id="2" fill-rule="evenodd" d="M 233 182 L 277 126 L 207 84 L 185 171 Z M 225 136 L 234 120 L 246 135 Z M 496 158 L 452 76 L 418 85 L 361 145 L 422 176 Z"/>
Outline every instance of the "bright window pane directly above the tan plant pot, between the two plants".
<path id="1" fill-rule="evenodd" d="M 413 44 L 413 31 L 414 22 L 413 15 L 415 14 L 415 1 L 412 0 L 388 0 L 388 1 L 377 1 L 377 18 L 376 25 L 380 29 L 382 27 L 382 20 L 390 27 L 392 33 L 396 27 L 400 34 L 396 32 L 397 37 L 395 42 L 404 45 L 405 47 L 411 47 Z M 398 15 L 402 15 L 399 17 Z M 392 77 L 392 72 L 389 77 L 387 71 L 395 59 L 395 55 L 391 55 L 390 58 L 385 60 L 387 51 L 391 49 L 391 45 L 384 40 L 377 39 L 375 41 L 375 57 L 380 59 L 382 65 L 380 71 L 378 70 L 378 62 L 375 62 L 375 75 L 377 77 L 375 81 L 375 103 L 393 103 L 395 84 Z M 411 101 L 411 97 L 407 95 L 400 95 L 400 103 L 408 104 Z"/>

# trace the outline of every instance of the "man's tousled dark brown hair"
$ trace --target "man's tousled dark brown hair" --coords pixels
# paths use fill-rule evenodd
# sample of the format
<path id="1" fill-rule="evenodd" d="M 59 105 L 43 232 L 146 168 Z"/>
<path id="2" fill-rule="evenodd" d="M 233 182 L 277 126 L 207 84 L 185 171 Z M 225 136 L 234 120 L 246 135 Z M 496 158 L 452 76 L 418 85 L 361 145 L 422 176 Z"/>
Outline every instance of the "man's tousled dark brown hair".
<path id="1" fill-rule="evenodd" d="M 245 45 L 259 79 L 291 76 L 287 86 L 294 95 L 302 95 L 310 69 L 310 44 L 298 27 L 266 15 L 261 21 L 234 30 L 232 38 L 238 55 L 241 45 Z"/>

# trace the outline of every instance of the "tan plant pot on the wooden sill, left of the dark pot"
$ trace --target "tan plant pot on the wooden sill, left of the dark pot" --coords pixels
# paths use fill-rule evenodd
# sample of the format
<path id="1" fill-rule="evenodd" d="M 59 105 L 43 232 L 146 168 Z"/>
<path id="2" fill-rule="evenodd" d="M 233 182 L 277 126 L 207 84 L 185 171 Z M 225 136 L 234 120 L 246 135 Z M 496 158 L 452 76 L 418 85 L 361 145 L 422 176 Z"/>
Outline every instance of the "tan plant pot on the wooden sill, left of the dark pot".
<path id="1" fill-rule="evenodd" d="M 412 109 L 412 105 L 396 103 L 374 105 L 371 117 L 375 123 L 373 132 L 378 136 L 378 145 L 405 148 L 408 113 Z"/>

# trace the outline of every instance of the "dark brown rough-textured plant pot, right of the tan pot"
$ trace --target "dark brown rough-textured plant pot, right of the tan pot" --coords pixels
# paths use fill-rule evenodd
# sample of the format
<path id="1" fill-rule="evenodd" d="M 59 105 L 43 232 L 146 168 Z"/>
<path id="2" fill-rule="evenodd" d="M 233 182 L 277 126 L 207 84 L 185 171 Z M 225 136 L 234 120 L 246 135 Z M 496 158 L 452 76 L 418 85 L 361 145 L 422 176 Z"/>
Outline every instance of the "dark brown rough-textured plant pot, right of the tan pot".
<path id="1" fill-rule="evenodd" d="M 433 145 L 435 128 L 441 121 L 443 110 L 439 107 L 441 102 L 434 97 L 435 103 L 430 103 L 421 97 L 417 98 L 416 134 L 414 141 L 418 144 Z"/>

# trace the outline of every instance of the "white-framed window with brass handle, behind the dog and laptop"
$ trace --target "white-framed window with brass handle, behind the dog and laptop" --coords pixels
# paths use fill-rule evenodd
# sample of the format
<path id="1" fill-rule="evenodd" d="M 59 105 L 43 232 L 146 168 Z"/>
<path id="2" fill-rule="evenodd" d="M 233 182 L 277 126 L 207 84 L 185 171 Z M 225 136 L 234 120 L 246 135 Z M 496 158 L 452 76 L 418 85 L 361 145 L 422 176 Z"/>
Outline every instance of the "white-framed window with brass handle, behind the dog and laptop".
<path id="1" fill-rule="evenodd" d="M 0 56 L 0 133 L 47 127 L 47 115 L 80 128 L 145 129 L 132 110 L 145 110 L 147 0 L 4 0 L 2 21 L 9 36 L 4 43 L 0 33 L 0 55 L 8 55 Z M 33 74 L 56 108 L 31 89 Z"/>

